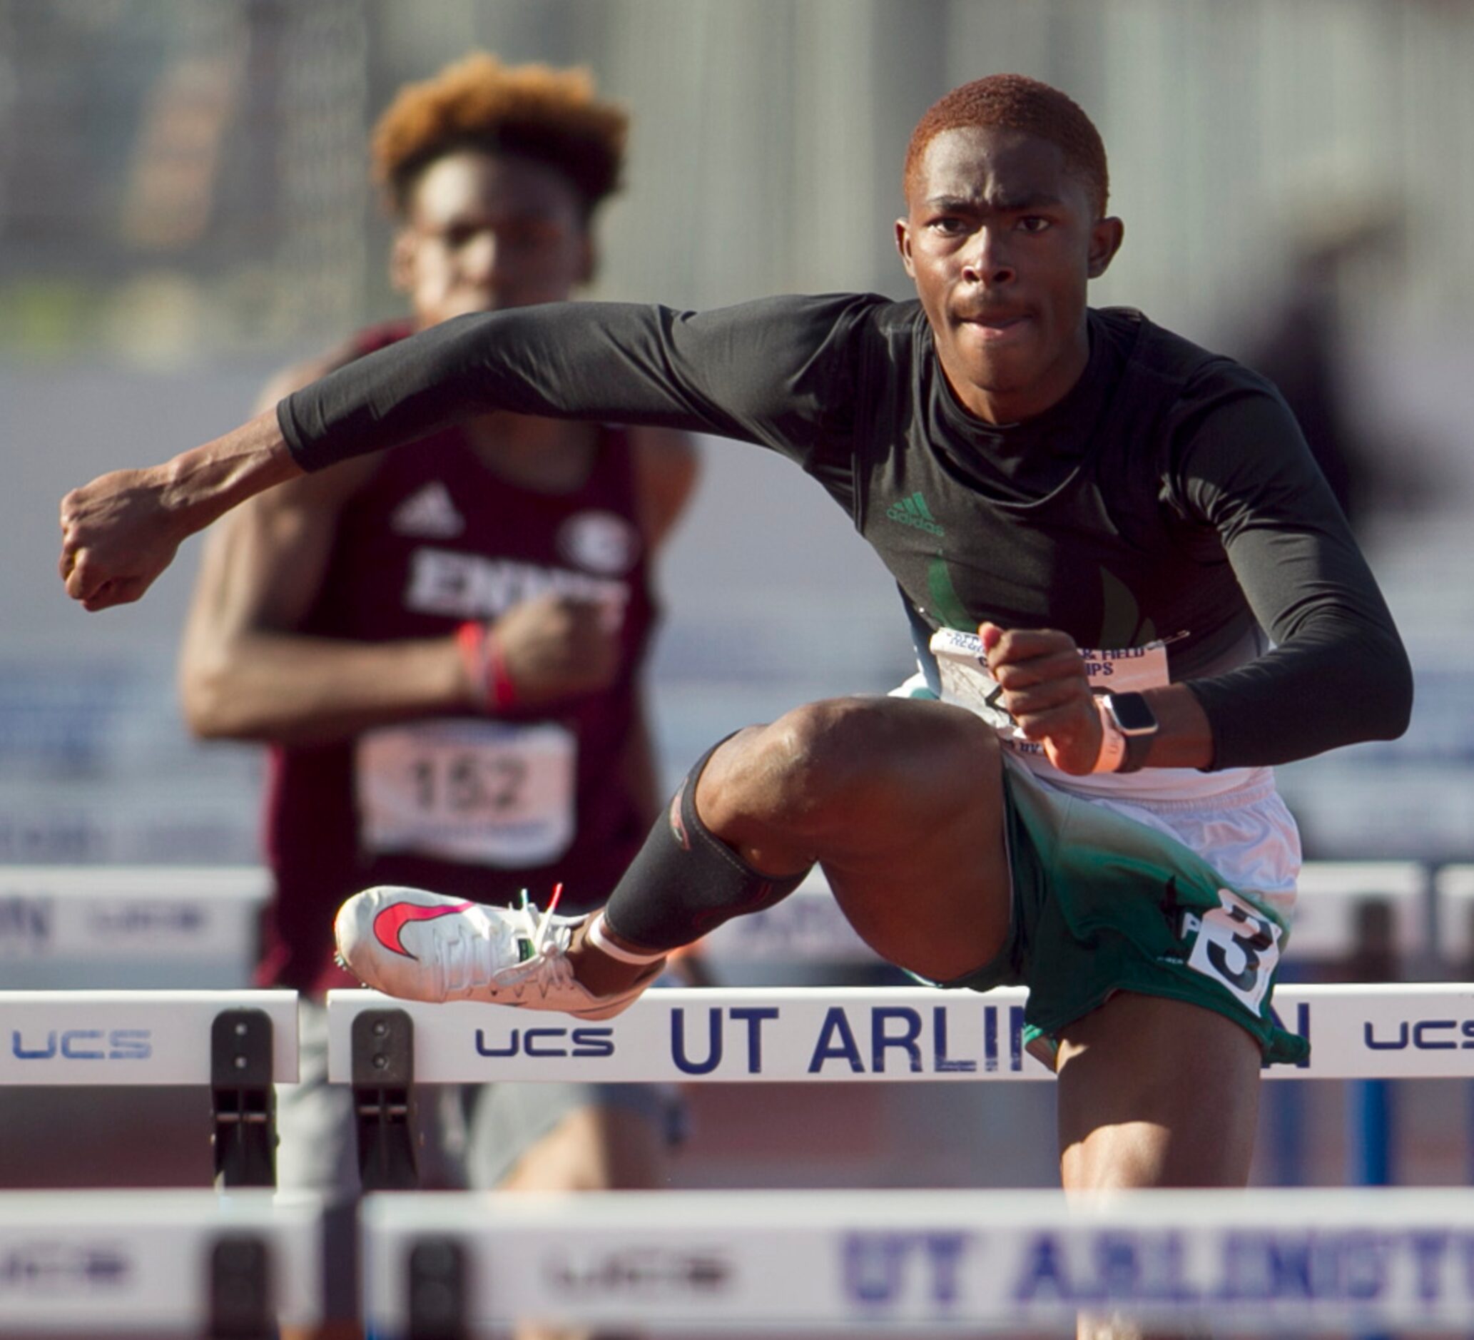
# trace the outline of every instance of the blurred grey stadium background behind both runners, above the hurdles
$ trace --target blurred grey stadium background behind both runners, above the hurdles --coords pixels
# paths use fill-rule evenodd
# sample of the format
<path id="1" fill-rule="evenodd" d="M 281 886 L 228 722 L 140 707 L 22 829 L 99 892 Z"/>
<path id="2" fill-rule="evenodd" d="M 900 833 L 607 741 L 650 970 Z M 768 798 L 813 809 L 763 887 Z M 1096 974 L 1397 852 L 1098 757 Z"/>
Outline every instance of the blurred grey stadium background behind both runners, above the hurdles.
<path id="1" fill-rule="evenodd" d="M 255 858 L 255 752 L 192 744 L 174 703 L 198 545 L 144 604 L 85 616 L 56 581 L 56 503 L 239 422 L 268 371 L 397 310 L 367 130 L 472 47 L 587 63 L 631 108 L 597 298 L 904 296 L 909 130 L 1002 69 L 1070 91 L 1111 152 L 1128 240 L 1097 302 L 1247 348 L 1307 248 L 1374 233 L 1335 267 L 1334 354 L 1383 461 L 1359 525 L 1419 699 L 1405 740 L 1284 784 L 1313 855 L 1470 856 L 1474 3 L 0 0 L 0 861 Z M 889 579 L 797 479 L 708 447 L 665 570 L 672 775 L 741 722 L 908 672 Z"/>

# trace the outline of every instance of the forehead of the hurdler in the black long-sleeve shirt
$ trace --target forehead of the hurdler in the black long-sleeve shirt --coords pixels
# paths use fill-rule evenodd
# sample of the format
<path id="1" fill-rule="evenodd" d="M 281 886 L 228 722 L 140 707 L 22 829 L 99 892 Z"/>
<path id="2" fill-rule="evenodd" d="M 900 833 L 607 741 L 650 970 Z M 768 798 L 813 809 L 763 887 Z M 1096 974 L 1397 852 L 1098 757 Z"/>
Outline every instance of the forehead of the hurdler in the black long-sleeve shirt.
<path id="1" fill-rule="evenodd" d="M 912 208 L 1088 208 L 1088 192 L 1052 140 L 996 125 L 943 130 L 921 152 L 907 198 Z"/>

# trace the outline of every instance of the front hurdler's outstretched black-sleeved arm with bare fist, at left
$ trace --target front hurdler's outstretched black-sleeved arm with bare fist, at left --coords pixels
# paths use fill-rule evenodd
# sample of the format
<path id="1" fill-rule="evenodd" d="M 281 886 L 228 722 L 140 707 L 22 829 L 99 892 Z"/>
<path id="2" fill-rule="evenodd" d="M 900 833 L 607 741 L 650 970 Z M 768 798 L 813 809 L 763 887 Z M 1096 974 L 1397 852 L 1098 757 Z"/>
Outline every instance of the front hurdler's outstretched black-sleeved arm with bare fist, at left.
<path id="1" fill-rule="evenodd" d="M 137 600 L 181 540 L 262 489 L 495 410 L 709 432 L 800 454 L 848 435 L 848 335 L 877 301 L 784 298 L 705 314 L 548 304 L 447 321 L 162 466 L 68 494 L 66 591 L 94 610 Z"/>

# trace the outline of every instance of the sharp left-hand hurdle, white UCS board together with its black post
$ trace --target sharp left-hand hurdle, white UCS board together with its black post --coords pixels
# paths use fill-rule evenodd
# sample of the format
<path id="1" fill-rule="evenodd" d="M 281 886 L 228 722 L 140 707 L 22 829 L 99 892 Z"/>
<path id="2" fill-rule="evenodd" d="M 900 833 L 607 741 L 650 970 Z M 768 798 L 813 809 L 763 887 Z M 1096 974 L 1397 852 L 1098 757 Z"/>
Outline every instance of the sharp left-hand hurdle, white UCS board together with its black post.
<path id="1" fill-rule="evenodd" d="M 209 1085 L 220 1187 L 276 1184 L 295 991 L 3 991 L 0 1085 Z"/>

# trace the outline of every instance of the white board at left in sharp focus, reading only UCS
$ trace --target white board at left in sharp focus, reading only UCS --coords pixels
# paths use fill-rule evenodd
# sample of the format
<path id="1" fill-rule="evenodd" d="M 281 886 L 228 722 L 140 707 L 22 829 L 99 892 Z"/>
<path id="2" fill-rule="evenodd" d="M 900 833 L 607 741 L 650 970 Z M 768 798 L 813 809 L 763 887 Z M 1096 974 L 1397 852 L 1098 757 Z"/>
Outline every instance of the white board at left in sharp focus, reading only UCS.
<path id="1" fill-rule="evenodd" d="M 296 1083 L 295 991 L 0 991 L 0 1085 L 208 1085 L 223 1010 L 265 1011 L 271 1078 Z"/>

